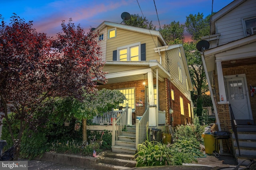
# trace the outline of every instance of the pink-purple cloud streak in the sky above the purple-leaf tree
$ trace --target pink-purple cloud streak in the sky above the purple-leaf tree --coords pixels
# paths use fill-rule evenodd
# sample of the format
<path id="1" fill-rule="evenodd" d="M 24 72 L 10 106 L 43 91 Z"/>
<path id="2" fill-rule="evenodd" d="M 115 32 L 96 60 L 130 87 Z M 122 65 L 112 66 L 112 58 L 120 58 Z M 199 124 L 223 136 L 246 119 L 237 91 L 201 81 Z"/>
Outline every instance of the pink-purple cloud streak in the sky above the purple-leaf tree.
<path id="1" fill-rule="evenodd" d="M 95 1 L 94 1 L 95 2 Z M 63 2 L 60 2 L 63 4 Z M 111 13 L 111 11 L 116 10 L 120 8 L 121 6 L 126 6 L 128 4 L 127 1 L 122 0 L 120 2 L 107 2 L 107 4 L 101 3 L 96 5 L 88 5 L 82 4 L 80 7 L 74 7 L 71 8 L 70 6 L 64 6 L 62 5 L 62 9 L 58 10 L 56 12 L 53 12 L 49 14 L 48 16 L 39 19 L 38 21 L 34 21 L 34 27 L 36 28 L 36 31 L 38 33 L 47 33 L 48 36 L 54 36 L 56 33 L 61 32 L 61 22 L 62 20 L 65 20 L 67 23 L 70 18 L 72 18 L 72 21 L 77 25 L 80 23 L 80 25 L 86 25 L 88 22 L 94 23 L 95 16 L 98 16 L 103 13 Z M 51 4 L 49 8 L 52 8 L 52 6 L 58 6 L 58 4 L 54 3 Z M 120 14 L 121 15 L 121 14 Z M 104 21 L 104 18 L 106 16 L 102 16 L 101 21 L 97 23 L 97 26 Z M 91 22 L 92 21 L 92 22 Z M 81 23 L 82 22 L 82 23 Z M 86 22 L 86 23 L 84 23 Z M 87 29 L 92 25 L 86 25 Z"/>

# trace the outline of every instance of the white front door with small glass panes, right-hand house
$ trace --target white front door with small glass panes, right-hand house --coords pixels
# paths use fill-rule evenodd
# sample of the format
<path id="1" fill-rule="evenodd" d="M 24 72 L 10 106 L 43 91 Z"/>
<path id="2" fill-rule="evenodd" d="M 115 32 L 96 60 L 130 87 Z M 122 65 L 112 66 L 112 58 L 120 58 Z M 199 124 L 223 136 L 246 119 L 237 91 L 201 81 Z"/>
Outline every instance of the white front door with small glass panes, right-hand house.
<path id="1" fill-rule="evenodd" d="M 250 120 L 250 108 L 248 106 L 248 91 L 244 83 L 244 77 L 226 79 L 228 90 L 228 102 L 236 120 Z"/>

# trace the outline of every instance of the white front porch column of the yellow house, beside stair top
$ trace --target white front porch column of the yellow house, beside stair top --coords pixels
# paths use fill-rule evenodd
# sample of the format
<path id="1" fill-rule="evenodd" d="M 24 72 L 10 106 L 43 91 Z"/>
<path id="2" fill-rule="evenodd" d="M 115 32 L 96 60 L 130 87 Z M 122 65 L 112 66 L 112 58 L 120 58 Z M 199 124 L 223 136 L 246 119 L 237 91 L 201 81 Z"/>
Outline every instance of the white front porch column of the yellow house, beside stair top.
<path id="1" fill-rule="evenodd" d="M 148 72 L 149 126 L 156 126 L 156 106 L 154 102 L 153 73 Z"/>

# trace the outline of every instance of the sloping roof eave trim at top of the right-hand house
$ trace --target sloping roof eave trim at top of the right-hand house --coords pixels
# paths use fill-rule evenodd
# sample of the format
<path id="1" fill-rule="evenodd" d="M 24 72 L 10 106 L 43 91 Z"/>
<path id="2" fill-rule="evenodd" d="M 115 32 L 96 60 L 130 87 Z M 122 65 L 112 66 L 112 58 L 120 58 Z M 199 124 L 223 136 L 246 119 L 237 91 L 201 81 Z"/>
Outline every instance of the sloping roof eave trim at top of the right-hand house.
<path id="1" fill-rule="evenodd" d="M 215 22 L 222 18 L 224 15 L 228 14 L 228 12 L 232 11 L 234 8 L 238 7 L 240 4 L 245 2 L 246 0 L 234 0 L 218 12 L 216 12 L 212 17 L 211 17 L 211 33 L 215 34 Z"/>

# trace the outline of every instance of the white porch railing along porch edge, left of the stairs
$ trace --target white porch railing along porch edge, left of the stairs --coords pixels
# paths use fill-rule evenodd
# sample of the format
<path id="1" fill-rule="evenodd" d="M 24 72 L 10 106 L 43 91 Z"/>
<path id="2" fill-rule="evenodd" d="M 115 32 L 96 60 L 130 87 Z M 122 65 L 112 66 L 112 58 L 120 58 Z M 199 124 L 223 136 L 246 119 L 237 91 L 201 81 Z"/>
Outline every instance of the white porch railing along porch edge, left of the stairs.
<path id="1" fill-rule="evenodd" d="M 99 125 L 112 124 L 113 119 L 117 119 L 123 112 L 127 110 L 128 109 L 114 110 L 114 111 L 109 111 L 107 113 L 104 113 L 103 115 L 97 115 L 92 119 L 92 123 L 97 123 Z"/>

